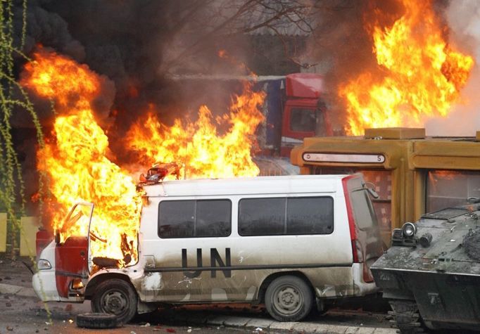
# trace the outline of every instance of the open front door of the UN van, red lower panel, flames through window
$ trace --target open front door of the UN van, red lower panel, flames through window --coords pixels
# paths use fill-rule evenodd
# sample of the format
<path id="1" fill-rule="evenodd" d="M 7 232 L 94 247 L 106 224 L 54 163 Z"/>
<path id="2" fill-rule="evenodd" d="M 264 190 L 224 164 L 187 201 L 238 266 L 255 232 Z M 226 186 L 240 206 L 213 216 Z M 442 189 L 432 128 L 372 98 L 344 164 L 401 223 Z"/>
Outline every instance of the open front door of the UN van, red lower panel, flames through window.
<path id="1" fill-rule="evenodd" d="M 84 235 L 69 236 L 62 241 L 60 231 L 55 233 L 55 279 L 60 297 L 78 297 L 75 290 L 82 287 L 82 280 L 89 277 L 88 233 L 93 212 L 93 203 L 78 203 L 63 223 L 63 231 L 76 226 L 79 234 Z"/>

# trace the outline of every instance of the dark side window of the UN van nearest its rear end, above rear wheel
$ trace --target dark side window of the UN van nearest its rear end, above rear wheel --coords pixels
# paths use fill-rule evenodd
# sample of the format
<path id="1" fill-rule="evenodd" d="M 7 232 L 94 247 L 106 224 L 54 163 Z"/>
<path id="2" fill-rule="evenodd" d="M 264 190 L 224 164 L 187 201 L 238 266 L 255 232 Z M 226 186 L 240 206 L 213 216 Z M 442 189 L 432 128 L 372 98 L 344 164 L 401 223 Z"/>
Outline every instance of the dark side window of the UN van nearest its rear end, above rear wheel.
<path id="1" fill-rule="evenodd" d="M 331 197 L 244 198 L 239 201 L 239 234 L 272 236 L 334 231 Z"/>

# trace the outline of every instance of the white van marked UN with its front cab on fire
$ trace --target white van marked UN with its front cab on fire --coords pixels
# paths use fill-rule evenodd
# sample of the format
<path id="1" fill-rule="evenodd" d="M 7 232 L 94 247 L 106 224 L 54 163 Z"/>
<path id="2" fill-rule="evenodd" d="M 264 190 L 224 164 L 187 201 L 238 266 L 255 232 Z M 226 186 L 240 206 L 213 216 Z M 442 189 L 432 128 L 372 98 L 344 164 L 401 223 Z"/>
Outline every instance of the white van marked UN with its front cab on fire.
<path id="1" fill-rule="evenodd" d="M 164 181 L 144 186 L 138 261 L 92 259 L 89 236 L 52 241 L 33 277 L 44 301 L 91 300 L 122 322 L 160 304 L 265 303 L 279 321 L 376 292 L 383 252 L 361 174 Z M 80 213 L 78 213 L 80 212 Z M 68 219 L 91 219 L 78 204 Z"/>

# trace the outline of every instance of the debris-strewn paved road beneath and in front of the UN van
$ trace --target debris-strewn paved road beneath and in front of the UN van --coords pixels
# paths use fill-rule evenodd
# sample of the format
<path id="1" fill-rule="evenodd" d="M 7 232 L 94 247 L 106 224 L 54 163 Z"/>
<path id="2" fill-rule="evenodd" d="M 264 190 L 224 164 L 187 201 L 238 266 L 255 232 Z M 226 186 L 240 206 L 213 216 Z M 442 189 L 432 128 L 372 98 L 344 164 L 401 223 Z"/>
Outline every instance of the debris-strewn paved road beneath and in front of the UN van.
<path id="1" fill-rule="evenodd" d="M 1 261 L 1 260 L 0 260 Z M 5 333 L 96 333 L 77 328 L 75 316 L 89 312 L 89 302 L 65 304 L 39 302 L 31 274 L 21 262 L 0 263 L 0 334 Z M 378 300 L 377 300 L 378 302 Z M 370 306 L 374 304 L 369 302 Z M 138 316 L 132 323 L 104 333 L 396 333 L 386 319 L 381 303 L 363 311 L 365 301 L 336 307 L 320 316 L 312 314 L 301 323 L 273 321 L 263 307 L 247 304 L 195 305 L 159 309 Z"/>

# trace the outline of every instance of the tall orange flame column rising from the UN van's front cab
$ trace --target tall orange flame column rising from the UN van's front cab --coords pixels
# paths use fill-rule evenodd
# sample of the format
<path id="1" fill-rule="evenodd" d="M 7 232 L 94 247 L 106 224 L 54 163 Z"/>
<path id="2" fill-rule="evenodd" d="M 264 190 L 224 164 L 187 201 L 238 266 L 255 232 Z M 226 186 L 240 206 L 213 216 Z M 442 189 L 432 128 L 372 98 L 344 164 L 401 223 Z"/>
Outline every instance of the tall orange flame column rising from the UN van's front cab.
<path id="1" fill-rule="evenodd" d="M 33 58 L 21 83 L 56 101 L 61 113 L 54 124 L 56 142 L 37 152 L 37 167 L 48 174 L 49 191 L 59 205 L 52 212 L 53 228 L 63 240 L 87 236 L 89 212 L 76 224 L 63 219 L 75 203 L 94 203 L 91 255 L 118 259 L 123 265 L 137 262 L 141 198 L 127 172 L 106 158 L 108 138 L 91 110 L 92 99 L 101 94 L 101 78 L 86 65 L 44 49 Z"/>

